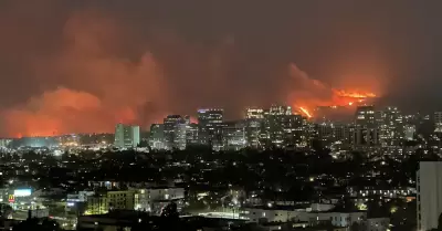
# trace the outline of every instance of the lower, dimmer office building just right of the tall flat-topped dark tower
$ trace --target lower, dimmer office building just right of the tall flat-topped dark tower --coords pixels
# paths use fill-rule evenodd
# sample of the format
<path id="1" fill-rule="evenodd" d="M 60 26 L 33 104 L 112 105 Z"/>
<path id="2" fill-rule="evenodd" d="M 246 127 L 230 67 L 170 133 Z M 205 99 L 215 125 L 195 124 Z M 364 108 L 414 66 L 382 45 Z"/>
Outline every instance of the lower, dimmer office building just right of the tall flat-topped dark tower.
<path id="1" fill-rule="evenodd" d="M 222 127 L 224 150 L 240 150 L 245 147 L 245 120 L 228 122 Z"/>

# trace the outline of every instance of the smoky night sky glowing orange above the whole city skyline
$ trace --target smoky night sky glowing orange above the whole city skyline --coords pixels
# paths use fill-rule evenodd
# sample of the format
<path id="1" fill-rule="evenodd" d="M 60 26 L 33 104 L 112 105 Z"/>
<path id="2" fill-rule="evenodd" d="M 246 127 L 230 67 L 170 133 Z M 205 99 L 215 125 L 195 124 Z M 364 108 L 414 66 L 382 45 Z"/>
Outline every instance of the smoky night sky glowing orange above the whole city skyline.
<path id="1" fill-rule="evenodd" d="M 442 109 L 442 1 L 0 1 L 0 135 L 373 92 Z"/>

